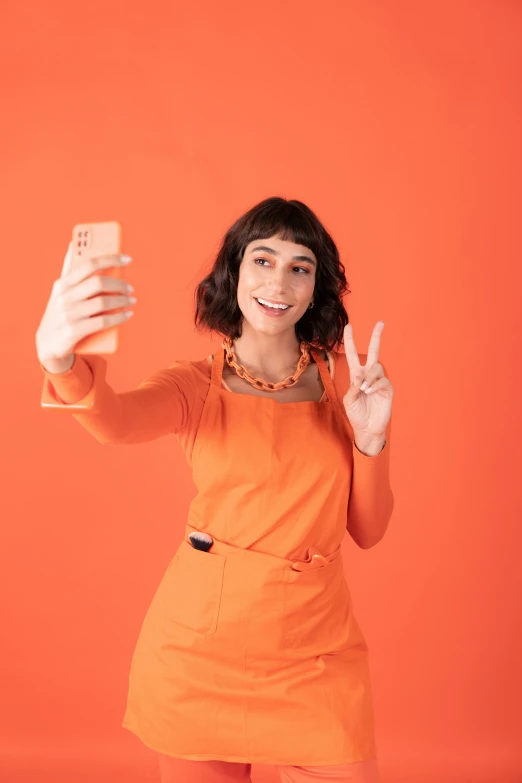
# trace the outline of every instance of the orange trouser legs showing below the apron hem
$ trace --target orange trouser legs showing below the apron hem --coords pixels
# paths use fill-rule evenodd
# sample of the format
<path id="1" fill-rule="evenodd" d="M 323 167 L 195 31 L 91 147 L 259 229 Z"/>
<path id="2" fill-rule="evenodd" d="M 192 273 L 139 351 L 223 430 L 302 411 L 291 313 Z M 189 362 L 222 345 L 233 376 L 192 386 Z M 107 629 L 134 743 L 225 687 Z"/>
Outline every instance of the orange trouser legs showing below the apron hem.
<path id="1" fill-rule="evenodd" d="M 191 761 L 158 753 L 161 783 L 251 783 L 251 764 Z M 278 766 L 281 783 L 379 783 L 375 759 L 328 767 Z"/>

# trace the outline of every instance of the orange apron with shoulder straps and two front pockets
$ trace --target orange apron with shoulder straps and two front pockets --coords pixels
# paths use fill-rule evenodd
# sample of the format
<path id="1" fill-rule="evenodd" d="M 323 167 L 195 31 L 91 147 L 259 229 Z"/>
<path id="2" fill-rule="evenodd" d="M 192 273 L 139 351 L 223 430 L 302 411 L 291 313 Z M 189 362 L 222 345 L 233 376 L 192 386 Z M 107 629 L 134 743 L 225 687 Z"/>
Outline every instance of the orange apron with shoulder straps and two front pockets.
<path id="1" fill-rule="evenodd" d="M 224 349 L 192 452 L 184 540 L 143 621 L 123 726 L 193 760 L 337 765 L 373 759 L 368 647 L 344 576 L 350 424 L 327 399 L 222 387 Z M 189 533 L 209 533 L 208 552 Z"/>

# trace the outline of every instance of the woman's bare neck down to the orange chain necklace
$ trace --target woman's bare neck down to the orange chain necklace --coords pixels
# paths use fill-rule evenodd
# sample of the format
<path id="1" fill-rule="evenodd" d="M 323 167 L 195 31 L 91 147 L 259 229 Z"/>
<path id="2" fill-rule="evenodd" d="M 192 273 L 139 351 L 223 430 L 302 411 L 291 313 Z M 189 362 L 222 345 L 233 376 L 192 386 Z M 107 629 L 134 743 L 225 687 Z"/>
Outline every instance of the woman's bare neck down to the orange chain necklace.
<path id="1" fill-rule="evenodd" d="M 233 348 L 239 364 L 254 377 L 269 383 L 291 375 L 301 356 L 300 342 L 294 329 L 269 335 L 243 327 L 243 333 L 234 340 Z"/>

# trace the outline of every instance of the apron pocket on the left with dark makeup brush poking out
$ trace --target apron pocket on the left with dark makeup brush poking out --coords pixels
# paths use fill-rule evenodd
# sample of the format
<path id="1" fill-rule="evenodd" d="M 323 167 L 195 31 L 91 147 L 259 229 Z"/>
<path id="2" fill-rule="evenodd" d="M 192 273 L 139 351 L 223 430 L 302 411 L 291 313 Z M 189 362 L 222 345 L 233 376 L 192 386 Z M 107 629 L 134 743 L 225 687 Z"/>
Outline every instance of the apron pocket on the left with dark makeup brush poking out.
<path id="1" fill-rule="evenodd" d="M 168 619 L 199 634 L 211 636 L 218 623 L 225 555 L 202 552 L 183 540 L 167 570 Z"/>

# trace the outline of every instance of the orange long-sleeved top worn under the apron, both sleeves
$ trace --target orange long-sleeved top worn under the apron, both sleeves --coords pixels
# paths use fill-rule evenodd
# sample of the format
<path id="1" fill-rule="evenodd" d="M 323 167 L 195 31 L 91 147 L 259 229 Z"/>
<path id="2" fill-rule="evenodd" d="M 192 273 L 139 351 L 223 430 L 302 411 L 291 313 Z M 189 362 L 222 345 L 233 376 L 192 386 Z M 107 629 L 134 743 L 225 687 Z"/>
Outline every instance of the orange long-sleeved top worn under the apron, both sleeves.
<path id="1" fill-rule="evenodd" d="M 346 355 L 343 351 L 332 351 L 327 353 L 327 358 L 336 391 L 342 399 L 350 384 Z M 364 354 L 359 358 L 364 364 Z M 75 354 L 73 366 L 60 374 L 48 372 L 41 364 L 40 368 L 48 392 L 56 403 L 64 408 L 92 404 L 89 410 L 84 411 L 71 407 L 70 415 L 99 443 L 137 444 L 173 434 L 191 465 L 192 448 L 210 385 L 209 357 L 199 361 L 177 360 L 126 392 L 116 392 L 107 383 L 107 360 L 100 355 Z M 224 381 L 223 386 L 228 388 Z M 347 530 L 364 548 L 373 546 L 382 538 L 393 511 L 389 475 L 390 431 L 391 421 L 386 432 L 386 444 L 375 456 L 363 454 L 352 441 Z M 360 531 L 364 531 L 363 538 Z"/>

